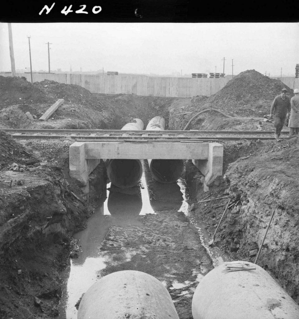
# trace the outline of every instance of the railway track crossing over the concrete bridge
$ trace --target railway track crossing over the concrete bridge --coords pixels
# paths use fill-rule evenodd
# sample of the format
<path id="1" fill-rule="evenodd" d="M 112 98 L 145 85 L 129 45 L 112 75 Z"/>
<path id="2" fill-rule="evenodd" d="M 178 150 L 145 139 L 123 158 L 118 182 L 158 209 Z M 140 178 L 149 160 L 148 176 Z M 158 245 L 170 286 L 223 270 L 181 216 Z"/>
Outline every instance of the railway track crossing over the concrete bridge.
<path id="1" fill-rule="evenodd" d="M 2 129 L 16 139 L 59 139 L 93 142 L 207 142 L 273 139 L 273 131 L 215 131 L 215 130 L 52 130 L 52 129 Z M 282 131 L 281 139 L 288 138 Z"/>

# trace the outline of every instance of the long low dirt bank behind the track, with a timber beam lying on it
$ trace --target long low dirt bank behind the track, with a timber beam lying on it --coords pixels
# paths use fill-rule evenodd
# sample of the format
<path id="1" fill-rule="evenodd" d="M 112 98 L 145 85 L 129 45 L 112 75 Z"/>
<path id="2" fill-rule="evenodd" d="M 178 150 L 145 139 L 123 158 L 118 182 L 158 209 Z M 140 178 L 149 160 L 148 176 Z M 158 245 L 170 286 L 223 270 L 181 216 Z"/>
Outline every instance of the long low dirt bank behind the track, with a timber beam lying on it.
<path id="1" fill-rule="evenodd" d="M 133 118 L 140 118 L 146 127 L 151 118 L 160 115 L 165 118 L 167 129 L 168 108 L 177 100 L 135 94 L 94 94 L 80 85 L 52 80 L 31 84 L 19 77 L 0 77 L 0 85 L 2 128 L 120 130 Z M 64 99 L 64 103 L 47 121 L 38 121 L 58 99 Z M 28 119 L 26 112 L 34 120 Z"/>

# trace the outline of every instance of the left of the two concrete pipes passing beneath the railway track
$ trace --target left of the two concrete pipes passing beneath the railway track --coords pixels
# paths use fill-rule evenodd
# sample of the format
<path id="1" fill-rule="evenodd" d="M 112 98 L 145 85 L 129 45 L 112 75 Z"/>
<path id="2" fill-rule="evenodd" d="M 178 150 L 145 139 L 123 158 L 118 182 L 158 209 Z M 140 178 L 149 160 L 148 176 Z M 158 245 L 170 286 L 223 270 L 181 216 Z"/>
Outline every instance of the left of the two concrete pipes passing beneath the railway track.
<path id="1" fill-rule="evenodd" d="M 143 130 L 143 122 L 127 123 L 121 130 Z M 120 188 L 129 188 L 137 185 L 142 176 L 142 164 L 139 159 L 108 159 L 107 176 L 111 183 Z"/>

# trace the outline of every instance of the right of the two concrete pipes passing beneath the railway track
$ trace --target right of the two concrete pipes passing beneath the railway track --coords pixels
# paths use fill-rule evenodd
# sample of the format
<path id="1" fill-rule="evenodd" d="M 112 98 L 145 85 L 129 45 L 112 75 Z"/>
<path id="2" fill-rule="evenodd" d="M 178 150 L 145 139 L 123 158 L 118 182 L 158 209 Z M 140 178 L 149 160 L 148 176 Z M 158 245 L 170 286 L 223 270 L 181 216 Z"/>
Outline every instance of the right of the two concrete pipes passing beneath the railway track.
<path id="1" fill-rule="evenodd" d="M 165 120 L 162 116 L 153 117 L 146 130 L 165 130 Z M 167 152 L 167 150 L 165 150 Z M 153 178 L 164 184 L 176 182 L 184 169 L 182 159 L 148 159 Z"/>

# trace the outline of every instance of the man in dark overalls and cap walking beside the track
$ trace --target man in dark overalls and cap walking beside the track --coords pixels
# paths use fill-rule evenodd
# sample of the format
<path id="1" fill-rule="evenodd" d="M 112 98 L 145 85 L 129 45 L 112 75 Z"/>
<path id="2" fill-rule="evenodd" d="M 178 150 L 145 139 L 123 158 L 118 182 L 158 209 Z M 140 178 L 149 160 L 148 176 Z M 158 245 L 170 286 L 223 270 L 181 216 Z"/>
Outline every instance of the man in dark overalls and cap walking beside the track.
<path id="1" fill-rule="evenodd" d="M 287 115 L 291 112 L 290 97 L 287 95 L 288 90 L 283 88 L 281 94 L 277 95 L 270 108 L 270 118 L 272 118 L 274 112 L 274 137 L 277 141 L 280 141 L 280 133 L 283 128 Z"/>

